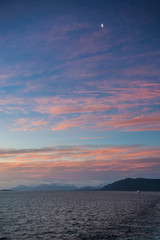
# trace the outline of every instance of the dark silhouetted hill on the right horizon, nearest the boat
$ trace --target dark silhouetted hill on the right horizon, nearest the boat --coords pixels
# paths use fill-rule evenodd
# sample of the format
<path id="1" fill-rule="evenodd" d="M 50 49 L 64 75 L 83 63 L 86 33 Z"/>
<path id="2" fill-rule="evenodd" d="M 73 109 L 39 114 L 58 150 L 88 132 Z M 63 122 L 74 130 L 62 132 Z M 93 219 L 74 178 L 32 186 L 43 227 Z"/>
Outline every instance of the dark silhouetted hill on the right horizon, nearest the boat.
<path id="1" fill-rule="evenodd" d="M 126 178 L 100 189 L 101 191 L 160 191 L 160 179 Z"/>

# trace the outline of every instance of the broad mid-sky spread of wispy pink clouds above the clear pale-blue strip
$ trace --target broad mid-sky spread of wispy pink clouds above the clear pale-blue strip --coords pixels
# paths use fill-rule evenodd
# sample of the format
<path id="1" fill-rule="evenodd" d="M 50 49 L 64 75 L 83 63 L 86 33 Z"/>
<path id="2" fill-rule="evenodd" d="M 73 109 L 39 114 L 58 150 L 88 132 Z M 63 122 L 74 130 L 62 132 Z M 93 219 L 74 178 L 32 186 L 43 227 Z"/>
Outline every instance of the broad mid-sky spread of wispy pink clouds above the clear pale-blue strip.
<path id="1" fill-rule="evenodd" d="M 0 111 L 5 114 L 15 111 L 23 113 L 23 117 L 14 119 L 14 125 L 9 126 L 19 131 L 33 131 L 36 125 L 38 129 L 52 131 L 73 127 L 120 131 L 160 130 L 159 83 L 120 81 L 117 87 L 114 83 L 104 81 L 95 86 L 97 93 L 80 91 L 70 96 L 1 98 Z M 33 118 L 33 112 L 41 116 Z"/>

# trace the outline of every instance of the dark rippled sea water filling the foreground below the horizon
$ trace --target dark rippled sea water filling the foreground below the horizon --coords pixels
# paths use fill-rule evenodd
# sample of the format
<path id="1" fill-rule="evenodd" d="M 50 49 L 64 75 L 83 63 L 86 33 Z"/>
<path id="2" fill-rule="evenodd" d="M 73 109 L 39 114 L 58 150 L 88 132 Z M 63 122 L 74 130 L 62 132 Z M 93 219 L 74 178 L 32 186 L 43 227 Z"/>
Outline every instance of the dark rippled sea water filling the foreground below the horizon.
<path id="1" fill-rule="evenodd" d="M 160 193 L 0 192 L 0 239 L 160 240 Z"/>

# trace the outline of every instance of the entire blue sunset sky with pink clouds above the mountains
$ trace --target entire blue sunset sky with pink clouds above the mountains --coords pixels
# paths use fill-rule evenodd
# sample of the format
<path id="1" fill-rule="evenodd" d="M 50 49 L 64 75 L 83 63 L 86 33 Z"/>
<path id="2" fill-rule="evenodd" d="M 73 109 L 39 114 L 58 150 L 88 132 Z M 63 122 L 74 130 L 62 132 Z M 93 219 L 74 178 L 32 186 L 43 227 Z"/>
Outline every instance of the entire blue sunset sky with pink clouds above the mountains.
<path id="1" fill-rule="evenodd" d="M 159 12 L 0 1 L 0 189 L 160 177 Z"/>

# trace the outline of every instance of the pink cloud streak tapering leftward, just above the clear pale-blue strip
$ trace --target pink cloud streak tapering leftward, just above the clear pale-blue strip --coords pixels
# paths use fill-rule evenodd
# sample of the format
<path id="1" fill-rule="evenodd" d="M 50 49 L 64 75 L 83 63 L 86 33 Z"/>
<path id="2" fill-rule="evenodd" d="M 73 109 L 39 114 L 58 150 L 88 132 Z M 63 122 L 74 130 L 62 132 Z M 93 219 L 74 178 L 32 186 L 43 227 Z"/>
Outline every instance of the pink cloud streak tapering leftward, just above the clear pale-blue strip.
<path id="1" fill-rule="evenodd" d="M 81 127 L 97 130 L 120 129 L 122 131 L 150 131 L 160 130 L 160 114 L 156 113 L 135 116 L 134 114 L 87 114 L 76 118 L 62 120 L 51 129 L 65 130 L 73 127 Z"/>

